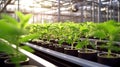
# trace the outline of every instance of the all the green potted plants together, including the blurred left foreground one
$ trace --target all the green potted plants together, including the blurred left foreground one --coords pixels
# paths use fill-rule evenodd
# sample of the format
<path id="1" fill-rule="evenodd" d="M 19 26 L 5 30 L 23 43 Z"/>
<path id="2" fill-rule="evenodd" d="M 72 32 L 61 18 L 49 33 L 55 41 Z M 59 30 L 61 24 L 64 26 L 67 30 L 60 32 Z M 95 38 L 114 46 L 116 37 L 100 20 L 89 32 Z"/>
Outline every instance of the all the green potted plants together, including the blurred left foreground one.
<path id="1" fill-rule="evenodd" d="M 120 48 L 118 47 L 119 45 L 114 45 L 114 41 L 119 41 L 120 24 L 113 20 L 104 23 L 66 22 L 52 24 L 31 24 L 27 26 L 27 22 L 29 21 L 31 15 L 24 15 L 18 11 L 16 14 L 18 15 L 19 21 L 6 14 L 3 14 L 2 19 L 0 20 L 0 51 L 1 54 L 7 54 L 8 58 L 10 59 L 9 61 L 12 61 L 13 64 L 16 64 L 14 66 L 19 67 L 20 62 L 27 59 L 25 55 L 19 52 L 20 47 L 24 49 L 27 48 L 26 50 L 29 51 L 33 51 L 27 46 L 20 45 L 22 42 L 27 42 L 28 40 L 32 40 L 32 43 L 34 42 L 43 47 L 46 47 L 45 44 L 50 44 L 50 49 L 54 49 L 54 47 L 63 47 L 63 49 L 58 51 L 66 54 L 73 54 L 74 56 L 80 56 L 82 58 L 88 58 L 86 57 L 88 55 L 81 56 L 80 53 L 92 53 L 91 50 L 88 50 L 89 46 L 92 46 L 92 48 L 95 50 L 98 50 L 98 47 L 100 46 L 100 48 L 102 47 L 107 49 L 107 52 L 102 55 L 99 53 L 99 58 L 112 58 L 112 61 L 113 58 L 115 58 L 114 62 L 120 62 L 119 54 L 114 55 L 114 53 L 112 53 L 112 51 L 120 51 Z M 97 38 L 97 41 L 106 39 L 108 42 L 103 45 L 97 45 L 98 42 L 90 42 L 89 38 L 91 37 Z M 80 38 L 84 39 L 81 40 Z M 13 48 L 12 44 L 16 45 L 16 48 Z M 78 52 L 79 55 L 76 54 Z M 94 56 L 91 57 L 95 58 Z M 107 64 L 106 62 L 108 62 L 108 60 L 103 62 L 103 60 L 100 59 L 98 59 L 98 61 L 103 64 Z M 108 63 L 108 65 L 116 65 L 116 63 L 112 64 L 113 62 L 109 62 L 110 63 Z"/>

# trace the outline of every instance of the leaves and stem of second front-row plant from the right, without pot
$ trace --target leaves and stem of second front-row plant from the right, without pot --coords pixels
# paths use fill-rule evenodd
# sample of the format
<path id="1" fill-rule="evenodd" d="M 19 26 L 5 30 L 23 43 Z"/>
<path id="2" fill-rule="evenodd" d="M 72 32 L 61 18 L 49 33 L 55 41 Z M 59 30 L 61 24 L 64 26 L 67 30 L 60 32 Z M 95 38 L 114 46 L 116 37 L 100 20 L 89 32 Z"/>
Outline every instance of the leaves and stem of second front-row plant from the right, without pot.
<path id="1" fill-rule="evenodd" d="M 78 41 L 78 44 L 75 47 L 76 49 L 82 48 L 83 50 L 85 50 L 85 52 L 87 52 L 88 45 L 91 45 L 94 48 L 95 45 L 89 41 L 89 37 L 91 35 L 93 27 L 94 24 L 92 22 L 87 22 L 80 25 L 80 35 L 84 35 L 85 39 Z"/>

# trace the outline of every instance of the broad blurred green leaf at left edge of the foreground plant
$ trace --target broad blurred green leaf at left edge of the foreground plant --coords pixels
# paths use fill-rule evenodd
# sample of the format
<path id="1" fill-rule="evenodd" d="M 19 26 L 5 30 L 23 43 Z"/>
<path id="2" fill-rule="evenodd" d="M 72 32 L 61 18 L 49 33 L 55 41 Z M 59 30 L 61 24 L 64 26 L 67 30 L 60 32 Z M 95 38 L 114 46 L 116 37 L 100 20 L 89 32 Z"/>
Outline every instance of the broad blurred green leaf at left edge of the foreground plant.
<path id="1" fill-rule="evenodd" d="M 4 20 L 0 20 L 0 38 L 15 43 L 17 36 L 20 36 L 21 34 L 21 29 L 11 23 L 5 22 Z"/>

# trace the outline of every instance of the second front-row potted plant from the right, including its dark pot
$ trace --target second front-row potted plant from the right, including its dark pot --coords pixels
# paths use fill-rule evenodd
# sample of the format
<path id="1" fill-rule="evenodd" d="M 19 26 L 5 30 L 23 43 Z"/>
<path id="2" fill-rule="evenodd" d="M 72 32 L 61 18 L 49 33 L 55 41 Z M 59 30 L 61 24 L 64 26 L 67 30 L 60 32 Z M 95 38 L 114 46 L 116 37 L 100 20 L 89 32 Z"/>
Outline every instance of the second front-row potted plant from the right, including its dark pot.
<path id="1" fill-rule="evenodd" d="M 97 51 L 88 48 L 88 45 L 91 45 L 93 48 L 95 48 L 94 43 L 90 42 L 89 40 L 91 29 L 93 28 L 91 26 L 92 26 L 91 22 L 84 23 L 80 26 L 81 35 L 84 35 L 85 39 L 78 41 L 78 44 L 76 45 L 76 49 L 79 49 L 78 56 L 80 58 L 96 61 Z"/>

